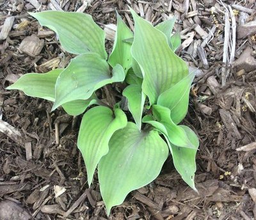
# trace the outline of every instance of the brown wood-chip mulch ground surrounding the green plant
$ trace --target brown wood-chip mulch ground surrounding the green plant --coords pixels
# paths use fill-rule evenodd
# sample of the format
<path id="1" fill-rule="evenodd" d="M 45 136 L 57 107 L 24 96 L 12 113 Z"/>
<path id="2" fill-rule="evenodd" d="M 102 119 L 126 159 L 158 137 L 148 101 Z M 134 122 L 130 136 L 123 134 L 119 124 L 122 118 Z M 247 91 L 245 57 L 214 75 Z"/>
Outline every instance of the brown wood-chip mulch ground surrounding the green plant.
<path id="1" fill-rule="evenodd" d="M 129 194 L 109 219 L 256 219 L 255 0 L 0 0 L 0 219 L 108 219 L 97 175 L 88 189 L 77 150 L 81 116 L 51 113 L 50 102 L 4 88 L 72 58 L 26 12 L 86 12 L 104 28 L 116 23 L 116 9 L 133 28 L 128 5 L 153 24 L 177 16 L 178 54 L 198 67 L 184 123 L 200 138 L 199 194 L 168 159 L 161 175 Z M 111 39 L 115 26 L 105 29 Z"/>

